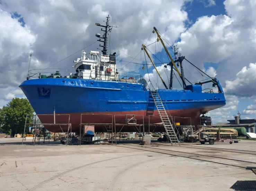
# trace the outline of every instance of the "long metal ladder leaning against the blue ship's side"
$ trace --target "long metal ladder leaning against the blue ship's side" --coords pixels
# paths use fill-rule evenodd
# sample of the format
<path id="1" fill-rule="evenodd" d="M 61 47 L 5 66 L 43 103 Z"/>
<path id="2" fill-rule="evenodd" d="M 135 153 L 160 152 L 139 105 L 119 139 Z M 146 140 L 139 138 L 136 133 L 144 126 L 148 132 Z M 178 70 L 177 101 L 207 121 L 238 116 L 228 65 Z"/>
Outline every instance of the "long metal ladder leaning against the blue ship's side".
<path id="1" fill-rule="evenodd" d="M 180 146 L 180 143 L 179 143 L 179 140 L 178 140 L 178 137 L 174 131 L 174 128 L 173 128 L 173 125 L 171 124 L 171 121 L 166 113 L 166 110 L 165 110 L 165 107 L 162 103 L 162 100 L 158 94 L 158 91 L 151 91 L 150 90 L 150 93 L 152 95 L 152 98 L 155 102 L 155 105 L 157 107 L 157 111 L 160 115 L 160 118 L 162 120 L 162 123 L 165 127 L 165 131 L 167 133 L 167 136 L 168 136 L 168 139 L 170 140 L 171 142 L 171 145 L 173 145 L 173 142 L 177 142 Z"/>

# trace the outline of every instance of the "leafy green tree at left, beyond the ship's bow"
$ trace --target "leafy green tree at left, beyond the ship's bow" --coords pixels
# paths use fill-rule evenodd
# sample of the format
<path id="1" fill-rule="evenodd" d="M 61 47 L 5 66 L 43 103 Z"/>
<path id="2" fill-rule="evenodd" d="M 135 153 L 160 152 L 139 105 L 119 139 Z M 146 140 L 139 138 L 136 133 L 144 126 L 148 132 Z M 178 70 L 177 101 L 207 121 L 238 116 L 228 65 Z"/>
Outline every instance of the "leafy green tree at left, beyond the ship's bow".
<path id="1" fill-rule="evenodd" d="M 29 101 L 25 98 L 13 98 L 0 110 L 0 126 L 4 131 L 10 131 L 11 135 L 23 133 L 26 116 L 27 123 L 31 123 L 34 110 Z"/>

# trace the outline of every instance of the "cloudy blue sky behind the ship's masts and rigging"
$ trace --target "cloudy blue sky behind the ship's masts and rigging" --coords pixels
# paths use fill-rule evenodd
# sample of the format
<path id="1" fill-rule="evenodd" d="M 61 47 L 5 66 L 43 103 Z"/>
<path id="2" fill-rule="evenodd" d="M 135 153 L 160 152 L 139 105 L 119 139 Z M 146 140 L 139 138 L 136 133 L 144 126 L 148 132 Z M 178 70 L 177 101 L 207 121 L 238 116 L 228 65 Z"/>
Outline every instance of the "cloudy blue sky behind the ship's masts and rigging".
<path id="1" fill-rule="evenodd" d="M 170 68 L 161 63 L 168 58 L 154 43 L 155 26 L 186 59 L 220 81 L 227 104 L 207 114 L 213 123 L 233 119 L 238 111 L 242 119 L 256 118 L 255 9 L 254 0 L 0 0 L 0 108 L 25 97 L 18 86 L 26 80 L 30 54 L 30 69 L 57 62 L 50 68 L 72 68 L 79 50 L 90 44 L 87 52 L 101 48 L 95 33 L 102 31 L 95 23 L 103 24 L 109 14 L 117 28 L 108 53 L 117 53 L 118 71 L 140 73 L 163 88 L 152 65 L 144 70 L 141 65 L 149 63 L 141 44 L 153 43 L 150 55 L 168 81 Z M 184 73 L 191 82 L 206 79 L 187 62 Z M 174 88 L 181 89 L 177 79 Z"/>

